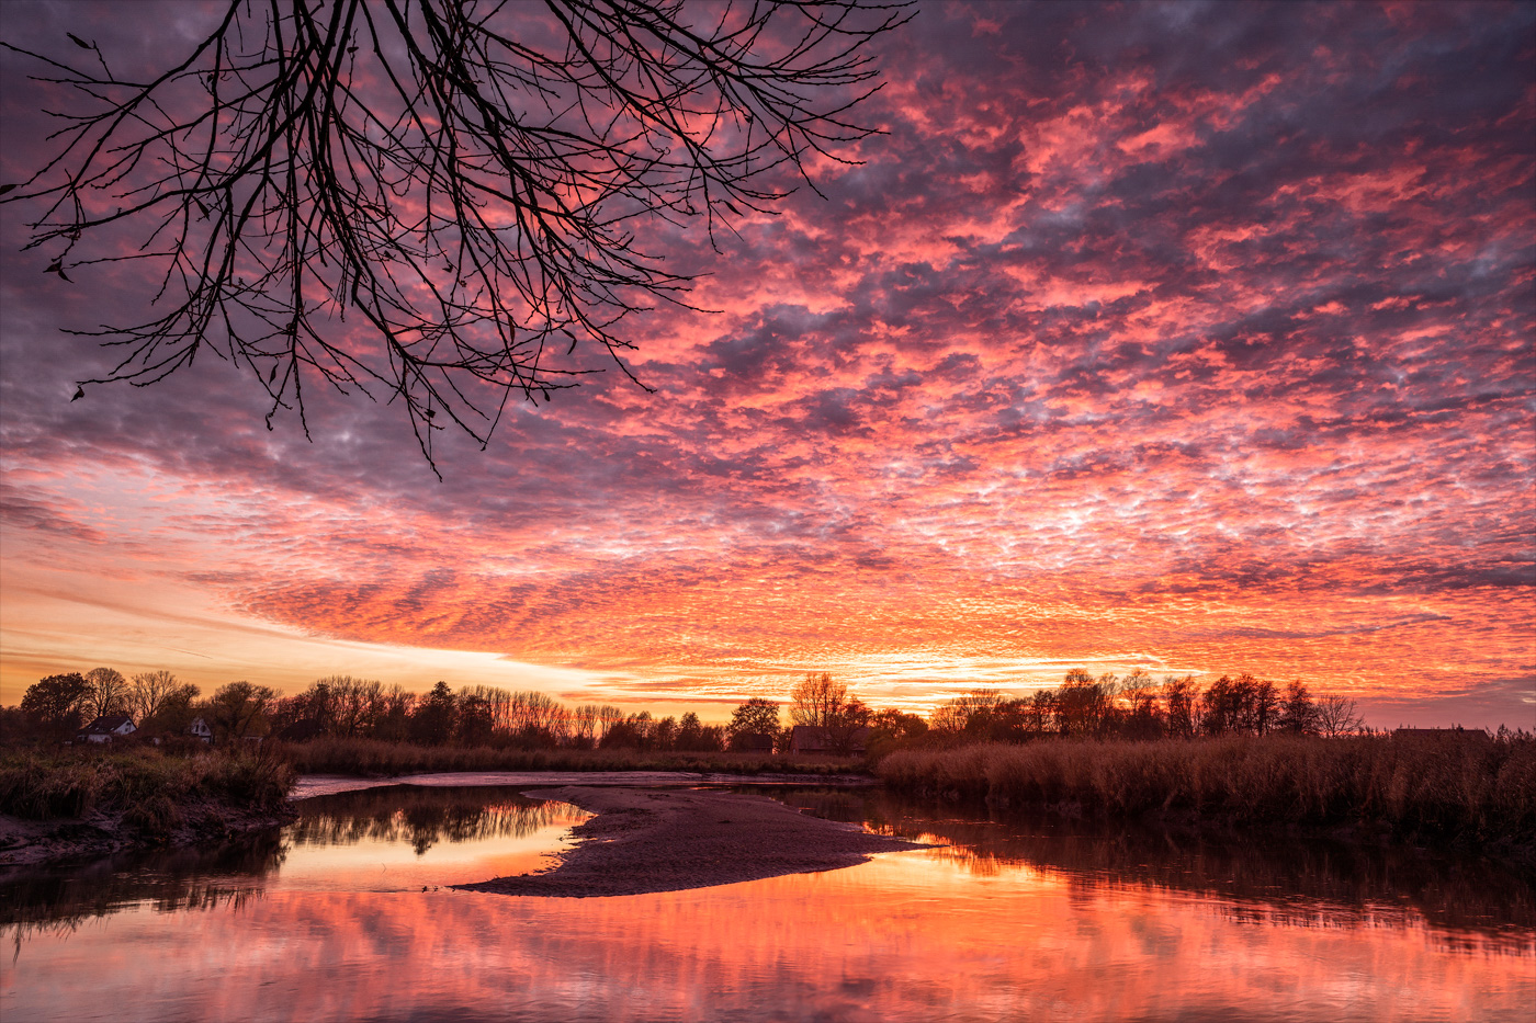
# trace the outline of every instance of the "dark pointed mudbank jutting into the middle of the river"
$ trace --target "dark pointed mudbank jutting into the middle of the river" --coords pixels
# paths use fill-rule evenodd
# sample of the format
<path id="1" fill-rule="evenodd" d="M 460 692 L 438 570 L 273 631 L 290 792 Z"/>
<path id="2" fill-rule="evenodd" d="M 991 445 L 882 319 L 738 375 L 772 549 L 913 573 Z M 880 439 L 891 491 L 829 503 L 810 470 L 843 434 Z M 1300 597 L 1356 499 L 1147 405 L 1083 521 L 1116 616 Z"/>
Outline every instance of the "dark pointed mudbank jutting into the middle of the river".
<path id="1" fill-rule="evenodd" d="M 585 786 L 524 796 L 574 803 L 598 816 L 571 829 L 578 845 L 554 869 L 459 888 L 578 899 L 639 896 L 831 871 L 876 852 L 928 848 L 811 817 L 763 796 Z"/>

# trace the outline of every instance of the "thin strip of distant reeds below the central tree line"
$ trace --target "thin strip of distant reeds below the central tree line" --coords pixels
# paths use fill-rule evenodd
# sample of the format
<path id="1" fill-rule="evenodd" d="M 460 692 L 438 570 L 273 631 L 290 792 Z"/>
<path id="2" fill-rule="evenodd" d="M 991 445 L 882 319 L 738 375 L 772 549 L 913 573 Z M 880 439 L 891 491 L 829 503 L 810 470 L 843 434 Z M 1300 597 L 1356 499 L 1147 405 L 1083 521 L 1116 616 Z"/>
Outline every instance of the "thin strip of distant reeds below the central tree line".
<path id="1" fill-rule="evenodd" d="M 300 774 L 436 774 L 447 771 L 696 771 L 719 774 L 866 774 L 863 757 L 644 750 L 493 750 L 418 747 L 378 739 L 315 739 L 276 756 Z"/>

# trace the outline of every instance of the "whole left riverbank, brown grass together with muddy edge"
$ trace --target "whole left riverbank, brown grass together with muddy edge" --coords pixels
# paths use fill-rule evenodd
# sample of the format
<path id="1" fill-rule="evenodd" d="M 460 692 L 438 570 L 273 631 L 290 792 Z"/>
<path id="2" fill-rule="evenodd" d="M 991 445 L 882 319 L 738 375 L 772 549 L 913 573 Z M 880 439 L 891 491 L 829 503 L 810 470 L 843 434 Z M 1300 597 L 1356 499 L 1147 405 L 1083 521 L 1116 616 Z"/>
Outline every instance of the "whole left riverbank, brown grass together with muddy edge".
<path id="1" fill-rule="evenodd" d="M 0 753 L 0 868 L 226 842 L 293 817 L 295 773 L 260 753 Z"/>

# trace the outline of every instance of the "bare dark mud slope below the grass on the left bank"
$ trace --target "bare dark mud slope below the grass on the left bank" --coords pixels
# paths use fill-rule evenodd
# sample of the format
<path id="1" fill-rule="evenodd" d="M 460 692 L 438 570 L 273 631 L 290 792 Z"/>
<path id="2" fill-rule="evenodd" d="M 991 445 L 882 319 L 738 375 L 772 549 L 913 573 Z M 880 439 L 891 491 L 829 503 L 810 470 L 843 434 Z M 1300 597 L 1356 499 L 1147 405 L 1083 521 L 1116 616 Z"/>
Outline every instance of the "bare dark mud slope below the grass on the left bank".
<path id="1" fill-rule="evenodd" d="M 276 828 L 296 814 L 283 808 L 264 813 L 215 802 L 177 808 L 180 822 L 144 828 L 123 813 L 91 811 L 83 817 L 23 820 L 0 814 L 0 871 L 91 860 L 124 849 L 180 848 L 227 842 L 244 834 Z"/>

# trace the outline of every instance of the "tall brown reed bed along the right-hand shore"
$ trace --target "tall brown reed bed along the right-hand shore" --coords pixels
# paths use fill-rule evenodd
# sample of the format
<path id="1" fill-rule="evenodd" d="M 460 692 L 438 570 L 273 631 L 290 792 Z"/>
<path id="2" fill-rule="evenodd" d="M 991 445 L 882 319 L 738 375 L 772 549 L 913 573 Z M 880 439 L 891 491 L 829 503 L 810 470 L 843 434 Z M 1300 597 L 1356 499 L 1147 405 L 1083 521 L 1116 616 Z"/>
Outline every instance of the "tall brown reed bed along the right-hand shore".
<path id="1" fill-rule="evenodd" d="M 1361 825 L 1536 849 L 1536 740 L 1046 740 L 906 750 L 877 774 L 911 794 L 1107 816 Z"/>

